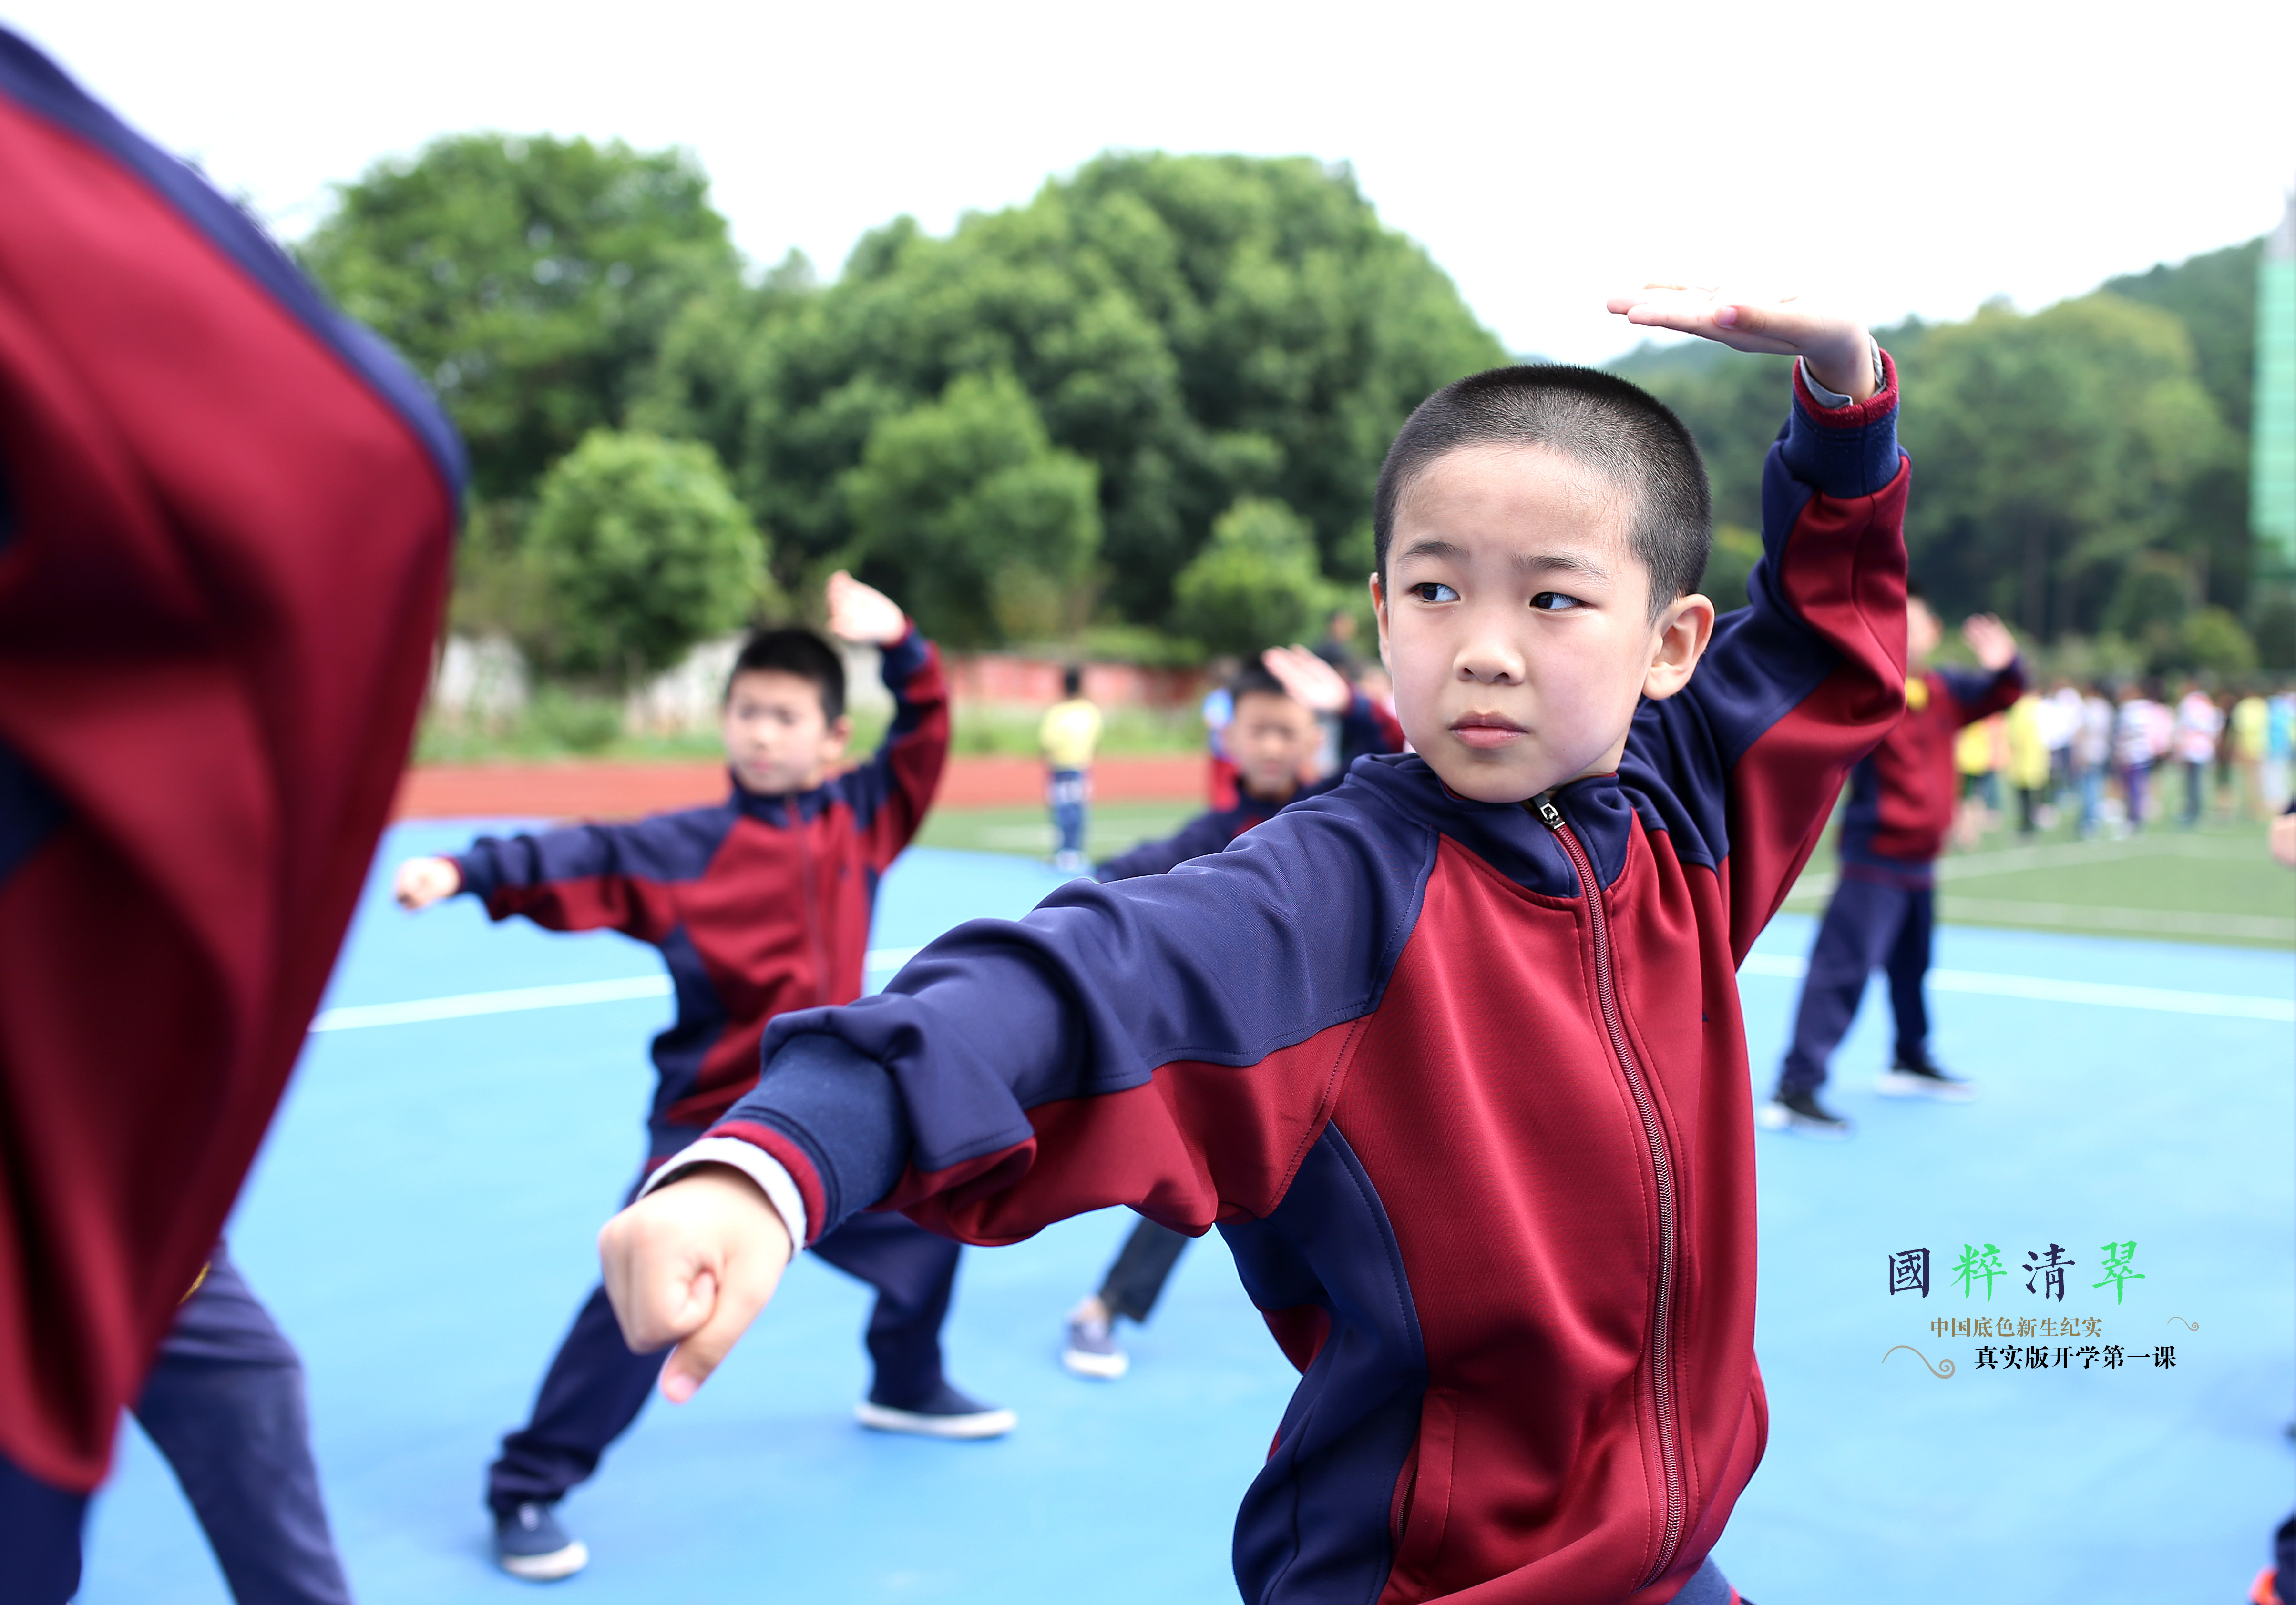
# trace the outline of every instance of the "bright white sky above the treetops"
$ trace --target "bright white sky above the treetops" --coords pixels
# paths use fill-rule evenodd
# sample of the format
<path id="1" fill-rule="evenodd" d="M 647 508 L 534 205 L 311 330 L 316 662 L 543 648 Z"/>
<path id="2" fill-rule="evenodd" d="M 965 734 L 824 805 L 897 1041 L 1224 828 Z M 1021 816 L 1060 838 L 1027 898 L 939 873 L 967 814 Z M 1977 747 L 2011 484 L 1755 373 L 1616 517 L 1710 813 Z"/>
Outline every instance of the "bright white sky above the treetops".
<path id="1" fill-rule="evenodd" d="M 2296 5 L 507 5 L 0 0 L 296 237 L 464 129 L 689 145 L 824 271 L 1107 147 L 1350 161 L 1518 351 L 1600 360 L 1651 276 L 1874 321 L 2037 308 L 2252 234 L 2296 179 Z"/>

